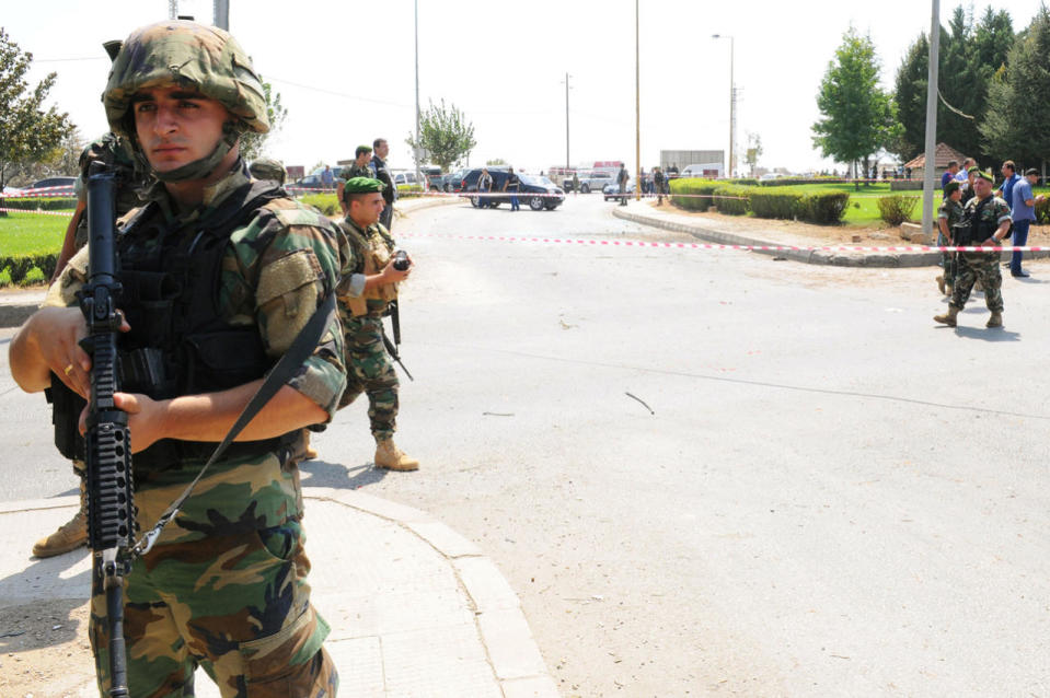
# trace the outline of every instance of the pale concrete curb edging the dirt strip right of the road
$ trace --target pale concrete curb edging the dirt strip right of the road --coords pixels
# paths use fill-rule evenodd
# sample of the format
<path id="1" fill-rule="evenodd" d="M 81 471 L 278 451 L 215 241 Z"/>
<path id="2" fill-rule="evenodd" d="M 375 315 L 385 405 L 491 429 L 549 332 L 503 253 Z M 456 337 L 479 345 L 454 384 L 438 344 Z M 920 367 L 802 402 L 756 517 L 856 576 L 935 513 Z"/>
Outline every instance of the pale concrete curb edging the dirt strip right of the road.
<path id="1" fill-rule="evenodd" d="M 747 246 L 763 246 L 763 245 L 776 245 L 777 243 L 771 242 L 768 240 L 758 240 L 753 237 L 745 237 L 743 235 L 734 235 L 731 233 L 724 233 L 722 231 L 711 230 L 704 228 L 703 225 L 696 225 L 693 223 L 681 223 L 678 221 L 666 220 L 656 216 L 645 216 L 642 213 L 636 213 L 634 211 L 624 211 L 620 208 L 613 209 L 613 216 L 616 218 L 628 220 L 634 223 L 642 223 L 643 225 L 651 225 L 654 228 L 660 228 L 662 230 L 669 230 L 677 233 L 685 233 L 692 235 L 699 240 L 706 242 L 717 243 L 719 245 L 747 245 Z M 926 253 L 916 253 L 916 254 L 895 254 L 895 253 L 838 253 L 838 252 L 827 252 L 821 249 L 784 249 L 784 251 L 766 251 L 766 249 L 755 249 L 753 251 L 757 254 L 763 255 L 773 255 L 776 257 L 783 257 L 785 259 L 791 259 L 792 261 L 800 261 L 803 264 L 814 264 L 814 265 L 823 265 L 832 267 L 865 267 L 865 268 L 909 268 L 909 267 L 934 267 L 941 264 L 941 253 L 939 252 L 926 252 Z M 1003 261 L 1008 261 L 1013 253 L 1003 252 L 1001 254 L 1001 259 Z M 1042 259 L 1050 257 L 1050 252 L 1027 252 L 1025 253 L 1025 259 Z"/>

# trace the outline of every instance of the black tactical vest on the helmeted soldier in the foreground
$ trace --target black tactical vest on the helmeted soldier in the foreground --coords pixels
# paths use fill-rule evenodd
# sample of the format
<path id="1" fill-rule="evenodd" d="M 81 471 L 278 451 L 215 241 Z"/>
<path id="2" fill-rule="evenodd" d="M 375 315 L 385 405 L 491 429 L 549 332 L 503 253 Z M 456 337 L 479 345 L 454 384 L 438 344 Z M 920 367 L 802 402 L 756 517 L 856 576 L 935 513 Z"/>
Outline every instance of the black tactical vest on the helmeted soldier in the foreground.
<path id="1" fill-rule="evenodd" d="M 155 203 L 131 218 L 118 240 L 123 291 L 117 306 L 131 326 L 119 340 L 122 392 L 168 399 L 223 391 L 263 377 L 276 363 L 266 356 L 257 326 L 235 326 L 222 318 L 219 289 L 230 234 L 256 217 L 258 224 L 265 225 L 276 217 L 267 203 L 285 196 L 273 182 L 245 184 L 197 221 L 194 228 L 199 232 L 195 234 L 186 229 L 169 230 Z M 57 412 L 65 402 L 55 400 L 60 447 L 64 439 L 68 441 L 58 433 Z M 72 421 L 76 423 L 76 418 Z M 223 457 L 291 447 L 301 433 L 296 430 L 274 439 L 236 441 Z M 163 439 L 135 454 L 132 461 L 136 472 L 166 469 L 187 459 L 205 459 L 217 445 Z"/>

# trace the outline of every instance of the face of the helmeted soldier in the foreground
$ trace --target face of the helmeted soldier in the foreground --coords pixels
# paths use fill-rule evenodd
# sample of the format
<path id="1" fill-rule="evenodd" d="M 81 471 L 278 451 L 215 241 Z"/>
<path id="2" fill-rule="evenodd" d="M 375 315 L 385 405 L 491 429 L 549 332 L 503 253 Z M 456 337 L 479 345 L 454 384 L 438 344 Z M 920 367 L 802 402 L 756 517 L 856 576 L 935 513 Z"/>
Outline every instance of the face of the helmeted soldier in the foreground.
<path id="1" fill-rule="evenodd" d="M 207 158 L 232 117 L 222 104 L 185 88 L 151 88 L 132 102 L 135 131 L 157 172 Z"/>

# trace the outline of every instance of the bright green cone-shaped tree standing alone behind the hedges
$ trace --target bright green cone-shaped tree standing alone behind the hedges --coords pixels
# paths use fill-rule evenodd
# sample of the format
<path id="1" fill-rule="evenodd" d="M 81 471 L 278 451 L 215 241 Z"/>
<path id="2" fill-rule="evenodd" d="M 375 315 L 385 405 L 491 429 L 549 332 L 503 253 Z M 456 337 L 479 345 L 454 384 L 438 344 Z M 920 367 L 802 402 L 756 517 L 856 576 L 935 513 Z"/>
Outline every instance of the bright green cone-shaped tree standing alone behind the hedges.
<path id="1" fill-rule="evenodd" d="M 879 61 L 870 36 L 852 26 L 820 83 L 814 144 L 824 158 L 857 165 L 893 142 L 897 116 L 889 94 L 878 86 Z"/>

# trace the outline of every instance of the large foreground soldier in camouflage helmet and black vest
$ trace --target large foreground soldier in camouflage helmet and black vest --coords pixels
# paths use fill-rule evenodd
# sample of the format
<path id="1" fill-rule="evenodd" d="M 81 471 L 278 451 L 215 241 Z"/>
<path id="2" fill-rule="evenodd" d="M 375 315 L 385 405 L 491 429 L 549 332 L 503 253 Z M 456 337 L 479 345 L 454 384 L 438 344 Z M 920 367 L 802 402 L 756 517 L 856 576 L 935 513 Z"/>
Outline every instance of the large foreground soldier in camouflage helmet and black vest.
<path id="1" fill-rule="evenodd" d="M 143 527 L 198 473 L 339 281 L 339 231 L 253 181 L 240 160 L 240 135 L 269 127 L 263 95 L 229 34 L 185 21 L 134 32 L 103 94 L 111 128 L 132 139 L 160 181 L 118 242 L 122 352 L 159 352 L 164 367 L 152 382 L 132 371 L 116 395 L 129 414 Z M 12 374 L 28 392 L 53 373 L 88 392 L 74 299 L 86 264 L 81 251 L 12 340 Z M 313 353 L 124 578 L 130 696 L 194 695 L 198 665 L 224 698 L 335 695 L 322 648 L 328 628 L 310 604 L 296 467 L 303 428 L 331 420 L 345 386 L 334 312 L 326 323 Z M 89 636 L 106 694 L 105 597 L 93 579 Z"/>

